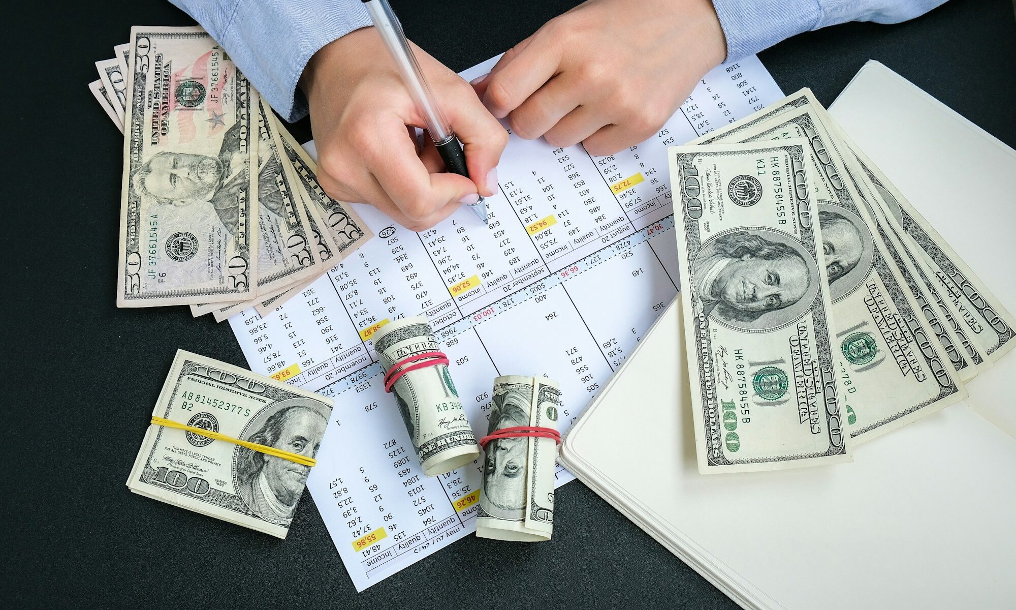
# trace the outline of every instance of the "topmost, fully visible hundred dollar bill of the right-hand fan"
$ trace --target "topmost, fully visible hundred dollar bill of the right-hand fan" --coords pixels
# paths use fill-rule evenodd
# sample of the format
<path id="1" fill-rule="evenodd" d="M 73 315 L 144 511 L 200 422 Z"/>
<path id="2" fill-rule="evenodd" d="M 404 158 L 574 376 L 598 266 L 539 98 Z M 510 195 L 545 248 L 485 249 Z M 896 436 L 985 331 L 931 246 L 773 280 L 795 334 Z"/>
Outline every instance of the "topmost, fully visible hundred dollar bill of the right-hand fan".
<path id="1" fill-rule="evenodd" d="M 668 151 L 699 472 L 849 462 L 807 140 Z"/>

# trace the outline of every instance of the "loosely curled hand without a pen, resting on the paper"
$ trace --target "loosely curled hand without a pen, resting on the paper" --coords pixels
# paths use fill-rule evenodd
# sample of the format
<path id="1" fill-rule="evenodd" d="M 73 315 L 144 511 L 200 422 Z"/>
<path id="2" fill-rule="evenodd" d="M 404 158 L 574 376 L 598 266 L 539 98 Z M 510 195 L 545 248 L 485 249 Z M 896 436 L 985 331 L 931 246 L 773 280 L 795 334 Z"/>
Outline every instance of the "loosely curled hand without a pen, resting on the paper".
<path id="1" fill-rule="evenodd" d="M 710 0 L 588 0 L 474 86 L 520 137 L 611 155 L 651 136 L 725 55 Z"/>

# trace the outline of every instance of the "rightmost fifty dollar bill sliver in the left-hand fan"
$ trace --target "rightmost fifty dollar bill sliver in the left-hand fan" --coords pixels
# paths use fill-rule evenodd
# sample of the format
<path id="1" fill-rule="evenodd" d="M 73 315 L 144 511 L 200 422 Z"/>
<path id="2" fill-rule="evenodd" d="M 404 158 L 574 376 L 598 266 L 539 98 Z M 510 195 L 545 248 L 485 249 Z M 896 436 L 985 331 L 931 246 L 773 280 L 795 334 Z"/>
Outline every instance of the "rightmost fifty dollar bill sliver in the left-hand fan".
<path id="1" fill-rule="evenodd" d="M 299 177 L 308 200 L 318 206 L 320 219 L 323 222 L 321 228 L 332 240 L 335 246 L 333 248 L 335 252 L 334 262 L 338 262 L 350 252 L 374 237 L 374 233 L 350 203 L 332 199 L 324 192 L 317 181 L 317 165 L 310 158 L 310 155 L 297 143 L 297 140 L 282 127 L 278 120 L 274 122 L 279 135 L 279 150 L 293 165 L 293 170 Z"/>

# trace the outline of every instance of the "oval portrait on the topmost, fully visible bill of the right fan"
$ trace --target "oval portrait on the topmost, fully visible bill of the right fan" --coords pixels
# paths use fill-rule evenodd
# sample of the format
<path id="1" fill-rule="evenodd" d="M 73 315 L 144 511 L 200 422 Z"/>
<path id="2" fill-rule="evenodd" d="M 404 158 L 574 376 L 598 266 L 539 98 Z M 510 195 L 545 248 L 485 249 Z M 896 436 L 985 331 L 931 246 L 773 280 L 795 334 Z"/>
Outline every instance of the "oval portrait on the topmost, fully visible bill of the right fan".
<path id="1" fill-rule="evenodd" d="M 696 296 L 706 315 L 753 322 L 800 301 L 813 282 L 795 248 L 754 232 L 737 231 L 703 247 L 692 263 Z"/>

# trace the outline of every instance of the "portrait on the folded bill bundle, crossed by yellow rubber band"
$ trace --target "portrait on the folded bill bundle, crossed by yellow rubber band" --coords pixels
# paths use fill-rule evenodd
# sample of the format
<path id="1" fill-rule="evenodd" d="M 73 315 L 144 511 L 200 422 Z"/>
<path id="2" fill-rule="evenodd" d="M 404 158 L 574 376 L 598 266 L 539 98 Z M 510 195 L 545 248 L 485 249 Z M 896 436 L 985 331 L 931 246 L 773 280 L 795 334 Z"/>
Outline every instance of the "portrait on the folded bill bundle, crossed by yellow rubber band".
<path id="1" fill-rule="evenodd" d="M 297 404 L 273 413 L 245 440 L 313 458 L 327 423 L 314 407 Z M 256 516 L 289 523 L 310 470 L 309 466 L 241 447 L 237 463 L 240 497 Z"/>

